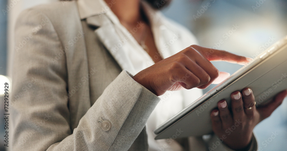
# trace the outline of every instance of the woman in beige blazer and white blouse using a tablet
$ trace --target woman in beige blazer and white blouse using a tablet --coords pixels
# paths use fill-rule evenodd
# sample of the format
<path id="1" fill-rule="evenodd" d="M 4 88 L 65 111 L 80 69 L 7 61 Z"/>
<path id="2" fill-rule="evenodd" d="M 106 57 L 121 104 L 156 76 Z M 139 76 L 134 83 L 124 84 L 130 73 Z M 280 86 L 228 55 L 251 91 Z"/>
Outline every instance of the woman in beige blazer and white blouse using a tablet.
<path id="1" fill-rule="evenodd" d="M 216 135 L 209 140 L 153 140 L 151 131 L 168 113 L 180 111 L 199 97 L 196 88 L 218 78 L 210 61 L 245 64 L 249 59 L 190 46 L 196 41 L 186 29 L 150 7 L 169 1 L 148 3 L 63 1 L 19 16 L 16 44 L 23 46 L 15 47 L 13 150 L 257 150 L 253 128 L 287 91 L 259 109 L 250 89 L 236 91 L 232 115 L 219 101 L 211 113 Z M 166 91 L 172 95 L 160 99 Z M 237 118 L 240 129 L 214 147 Z"/>

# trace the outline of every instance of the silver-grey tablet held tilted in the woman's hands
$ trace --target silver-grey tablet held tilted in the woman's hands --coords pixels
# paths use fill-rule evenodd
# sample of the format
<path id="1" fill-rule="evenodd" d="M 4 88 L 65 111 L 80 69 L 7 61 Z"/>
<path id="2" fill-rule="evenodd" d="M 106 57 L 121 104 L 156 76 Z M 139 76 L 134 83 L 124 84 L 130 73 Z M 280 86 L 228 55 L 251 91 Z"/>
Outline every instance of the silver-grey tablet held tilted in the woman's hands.
<path id="1" fill-rule="evenodd" d="M 222 83 L 158 126 L 155 139 L 202 136 L 212 133 L 210 113 L 218 101 L 230 105 L 230 94 L 249 87 L 256 106 L 268 103 L 277 93 L 287 89 L 287 36 L 262 52 Z"/>

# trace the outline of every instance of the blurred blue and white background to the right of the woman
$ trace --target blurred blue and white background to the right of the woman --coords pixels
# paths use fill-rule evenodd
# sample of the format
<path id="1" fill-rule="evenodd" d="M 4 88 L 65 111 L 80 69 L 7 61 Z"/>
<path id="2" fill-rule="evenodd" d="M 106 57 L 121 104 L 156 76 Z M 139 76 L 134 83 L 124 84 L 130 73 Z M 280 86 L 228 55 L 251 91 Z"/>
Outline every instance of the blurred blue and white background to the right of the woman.
<path id="1" fill-rule="evenodd" d="M 255 58 L 287 35 L 286 0 L 173 0 L 163 13 L 189 28 L 200 46 L 250 58 Z M 242 67 L 227 62 L 212 63 L 220 71 L 230 74 Z M 213 87 L 215 85 L 204 91 Z M 261 147 L 259 150 L 287 150 L 287 99 L 255 127 L 254 133 Z M 273 133 L 278 136 L 271 138 Z"/>

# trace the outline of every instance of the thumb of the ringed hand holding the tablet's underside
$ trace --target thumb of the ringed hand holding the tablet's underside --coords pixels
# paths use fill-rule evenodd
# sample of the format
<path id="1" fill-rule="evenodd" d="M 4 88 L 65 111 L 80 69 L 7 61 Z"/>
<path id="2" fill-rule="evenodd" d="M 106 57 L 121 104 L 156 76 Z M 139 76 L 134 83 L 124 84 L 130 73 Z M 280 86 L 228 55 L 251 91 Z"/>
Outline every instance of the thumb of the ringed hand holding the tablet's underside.
<path id="1" fill-rule="evenodd" d="M 260 114 L 260 121 L 269 117 L 273 113 L 273 111 L 282 104 L 286 96 L 287 96 L 287 90 L 281 91 L 272 99 L 270 103 L 262 107 L 258 107 L 257 111 Z"/>

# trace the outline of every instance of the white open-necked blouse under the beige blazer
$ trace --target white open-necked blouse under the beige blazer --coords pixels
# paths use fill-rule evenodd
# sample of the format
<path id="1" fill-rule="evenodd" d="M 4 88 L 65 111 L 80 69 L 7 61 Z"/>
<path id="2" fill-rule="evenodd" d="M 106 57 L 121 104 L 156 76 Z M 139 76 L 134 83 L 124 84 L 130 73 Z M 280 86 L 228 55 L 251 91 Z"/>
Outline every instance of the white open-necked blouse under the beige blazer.
<path id="1" fill-rule="evenodd" d="M 103 8 L 108 8 L 103 0 L 100 1 Z M 162 58 L 168 58 L 192 44 L 197 44 L 196 39 L 188 30 L 177 23 L 168 20 L 160 13 L 160 11 L 152 9 L 146 2 L 142 1 L 142 5 L 144 12 L 151 23 L 155 45 Z M 118 36 L 123 40 L 122 45 L 120 46 L 123 48 L 125 55 L 129 59 L 122 60 L 121 62 L 132 64 L 131 67 L 125 67 L 124 69 L 135 75 L 141 70 L 152 66 L 154 61 L 149 54 L 120 23 L 117 16 L 110 9 L 106 11 L 106 15 L 115 25 Z M 121 65 L 121 63 L 119 64 L 121 67 L 124 66 Z M 193 88 L 191 90 L 167 91 L 164 95 L 159 96 L 161 101 L 158 103 L 146 123 L 149 150 L 157 151 L 163 148 L 165 151 L 183 150 L 182 146 L 180 146 L 176 141 L 164 139 L 154 140 L 155 134 L 153 133 L 153 130 L 197 98 L 201 97 L 201 95 L 202 91 L 200 89 Z"/>

